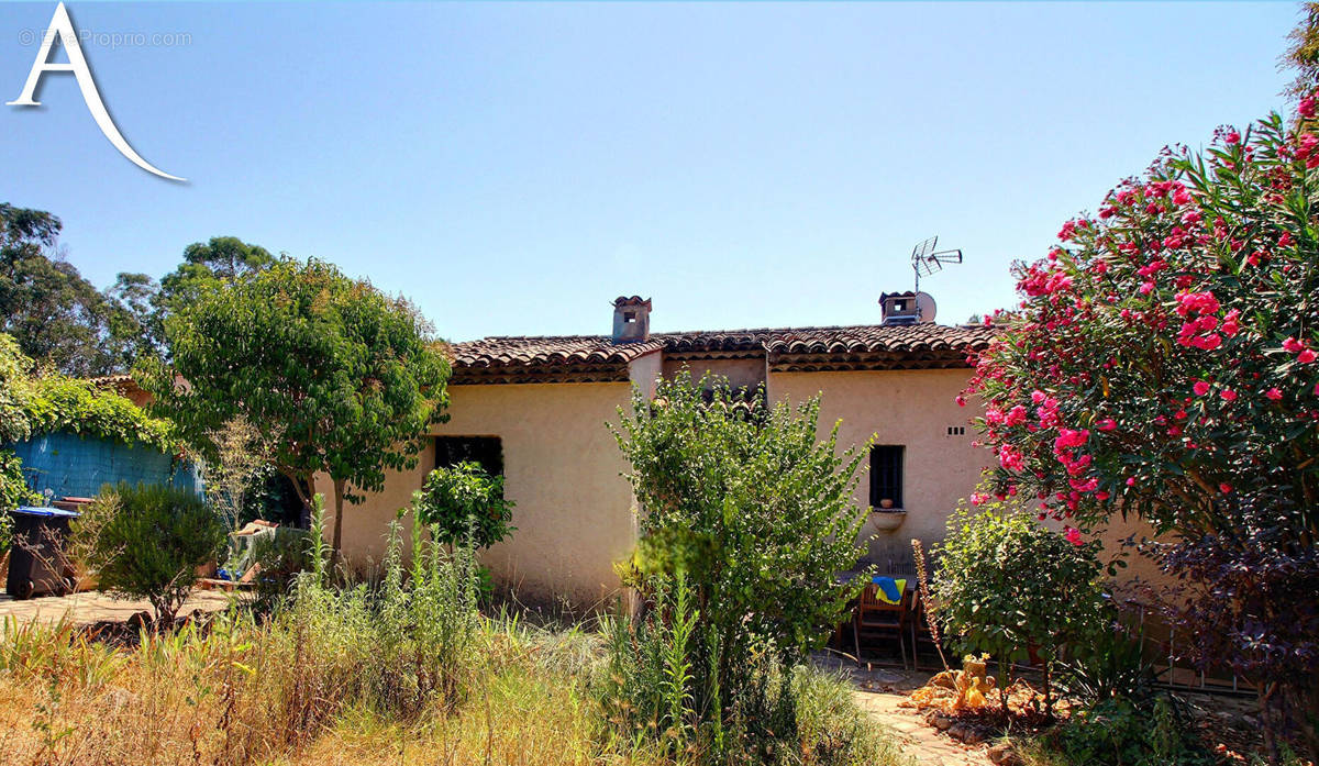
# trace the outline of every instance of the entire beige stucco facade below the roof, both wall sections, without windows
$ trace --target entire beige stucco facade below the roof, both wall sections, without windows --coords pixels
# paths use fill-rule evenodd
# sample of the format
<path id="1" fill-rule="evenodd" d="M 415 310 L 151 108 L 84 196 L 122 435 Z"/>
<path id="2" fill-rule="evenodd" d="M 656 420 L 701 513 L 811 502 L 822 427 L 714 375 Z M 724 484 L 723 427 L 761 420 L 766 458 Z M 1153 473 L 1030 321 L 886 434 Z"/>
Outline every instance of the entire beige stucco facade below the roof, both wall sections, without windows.
<path id="1" fill-rule="evenodd" d="M 905 446 L 900 527 L 876 533 L 869 558 L 894 571 L 910 568 L 910 539 L 943 537 L 947 514 L 975 488 L 989 454 L 971 446 L 968 411 L 954 398 L 968 369 L 768 372 L 761 360 L 674 364 L 648 353 L 628 364 L 628 380 L 450 386 L 448 422 L 437 436 L 497 436 L 503 447 L 505 494 L 516 506 L 510 538 L 483 554 L 495 579 L 528 603 L 566 601 L 607 608 L 617 596 L 613 563 L 636 542 L 634 500 L 607 422 L 617 422 L 633 386 L 653 393 L 658 376 L 687 367 L 728 374 L 735 385 L 764 382 L 772 401 L 794 403 L 822 394 L 820 435 L 842 421 L 840 447 Z M 950 435 L 950 426 L 964 434 Z M 413 471 L 389 476 L 385 489 L 344 514 L 344 555 L 359 566 L 379 560 L 389 519 L 408 505 L 435 465 L 427 448 Z M 863 460 L 856 502 L 869 506 L 869 459 Z"/>

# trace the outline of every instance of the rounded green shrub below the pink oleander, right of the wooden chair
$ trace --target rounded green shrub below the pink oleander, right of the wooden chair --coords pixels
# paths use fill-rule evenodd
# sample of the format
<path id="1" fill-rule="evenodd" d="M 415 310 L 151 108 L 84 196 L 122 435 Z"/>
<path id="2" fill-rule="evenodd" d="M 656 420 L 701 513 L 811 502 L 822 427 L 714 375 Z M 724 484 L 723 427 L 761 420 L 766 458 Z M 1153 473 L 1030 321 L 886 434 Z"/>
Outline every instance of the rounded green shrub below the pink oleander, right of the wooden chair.
<path id="1" fill-rule="evenodd" d="M 948 518 L 935 547 L 935 614 L 947 637 L 967 653 L 989 653 L 1005 668 L 1038 653 L 1050 675 L 1064 646 L 1088 639 L 1104 624 L 1099 543 L 1068 541 L 1025 513 L 989 502 Z"/>

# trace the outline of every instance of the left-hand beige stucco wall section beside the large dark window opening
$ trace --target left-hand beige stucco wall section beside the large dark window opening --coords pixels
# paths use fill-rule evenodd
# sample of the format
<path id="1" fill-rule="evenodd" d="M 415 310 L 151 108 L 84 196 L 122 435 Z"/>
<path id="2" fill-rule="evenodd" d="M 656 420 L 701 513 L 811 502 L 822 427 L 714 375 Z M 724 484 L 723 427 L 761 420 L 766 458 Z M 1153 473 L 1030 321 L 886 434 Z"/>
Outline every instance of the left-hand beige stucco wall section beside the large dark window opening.
<path id="1" fill-rule="evenodd" d="M 636 527 L 632 490 L 620 476 L 627 465 L 605 422 L 617 421 L 629 392 L 628 382 L 450 388 L 450 421 L 433 432 L 501 440 L 517 530 L 481 559 L 524 601 L 609 605 L 619 585 L 612 564 L 632 550 Z M 390 476 L 384 492 L 346 512 L 347 556 L 380 558 L 389 519 L 434 463 L 427 451 L 415 471 Z"/>

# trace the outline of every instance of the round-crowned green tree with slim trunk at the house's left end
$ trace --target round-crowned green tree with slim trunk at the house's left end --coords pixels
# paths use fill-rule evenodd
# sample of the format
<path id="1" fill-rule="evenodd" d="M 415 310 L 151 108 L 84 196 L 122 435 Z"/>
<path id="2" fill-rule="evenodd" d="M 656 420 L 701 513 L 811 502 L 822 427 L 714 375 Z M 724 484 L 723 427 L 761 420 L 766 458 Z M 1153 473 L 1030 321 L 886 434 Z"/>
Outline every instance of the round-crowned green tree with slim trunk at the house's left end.
<path id="1" fill-rule="evenodd" d="M 140 368 L 157 410 L 210 460 L 208 434 L 244 417 L 307 512 L 315 475 L 328 475 L 336 552 L 344 502 L 415 465 L 448 401 L 448 363 L 415 314 L 323 261 L 286 258 L 204 290 L 165 335 L 171 360 Z"/>

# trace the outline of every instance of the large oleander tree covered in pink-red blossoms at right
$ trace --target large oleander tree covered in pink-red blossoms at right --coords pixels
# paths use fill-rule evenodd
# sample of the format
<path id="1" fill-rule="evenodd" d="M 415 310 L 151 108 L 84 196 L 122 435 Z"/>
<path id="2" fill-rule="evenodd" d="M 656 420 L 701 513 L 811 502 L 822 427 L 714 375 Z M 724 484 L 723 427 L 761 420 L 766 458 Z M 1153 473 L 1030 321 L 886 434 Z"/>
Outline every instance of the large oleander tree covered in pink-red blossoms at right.
<path id="1" fill-rule="evenodd" d="M 1165 535 L 1145 550 L 1187 584 L 1169 609 L 1202 666 L 1257 683 L 1273 757 L 1319 757 L 1316 167 L 1278 115 L 1167 150 L 1017 266 L 969 388 L 998 494 Z"/>

